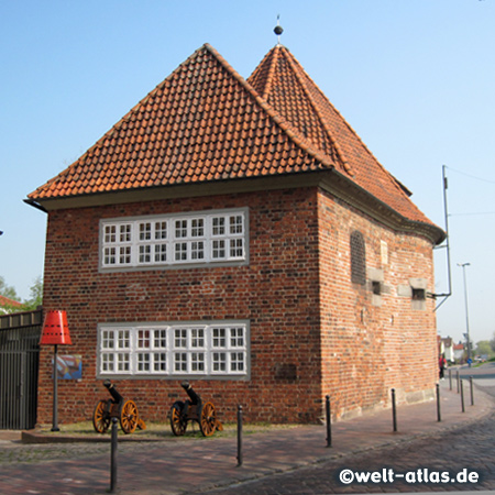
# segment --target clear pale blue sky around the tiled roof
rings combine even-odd
[[[495,331],[495,0],[3,0],[0,276],[43,273],[46,215],[23,199],[86,152],[205,43],[246,78],[282,43],[377,160],[444,227],[453,295],[439,332]],[[438,250],[437,293],[448,290]]]

